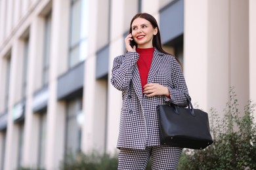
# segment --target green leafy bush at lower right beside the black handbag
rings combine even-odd
[[[256,169],[255,105],[251,101],[238,110],[234,88],[223,118],[211,109],[211,131],[214,143],[204,150],[184,149],[178,169]]]

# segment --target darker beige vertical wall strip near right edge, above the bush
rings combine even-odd
[[[249,0],[230,3],[230,86],[234,86],[240,112],[249,100]]]

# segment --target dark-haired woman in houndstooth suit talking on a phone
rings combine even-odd
[[[181,65],[161,47],[156,19],[136,14],[125,38],[126,53],[114,59],[111,83],[123,105],[117,148],[118,169],[176,169],[182,148],[160,144],[158,105],[186,106],[188,89]]]

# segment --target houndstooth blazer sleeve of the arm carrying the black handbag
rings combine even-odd
[[[176,59],[173,59],[172,63],[172,73],[171,81],[172,86],[168,86],[170,97],[165,97],[165,101],[169,101],[175,105],[181,105],[186,107],[188,102],[186,101],[186,96],[189,97],[188,88],[186,86],[186,81],[182,73],[181,65],[177,62]]]

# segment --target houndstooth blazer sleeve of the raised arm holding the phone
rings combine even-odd
[[[133,75],[133,69],[137,65],[139,54],[137,52],[127,52],[123,56],[114,59],[112,67],[111,84],[120,91],[129,88]]]

